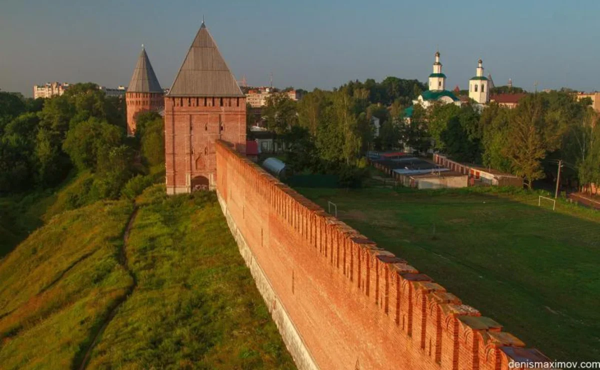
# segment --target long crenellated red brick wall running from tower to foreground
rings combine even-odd
[[[269,285],[263,297],[300,368],[498,370],[512,359],[547,361],[228,143],[215,149],[227,220],[249,266],[259,266],[251,269],[265,276],[257,285]],[[284,329],[278,312],[291,321]]]

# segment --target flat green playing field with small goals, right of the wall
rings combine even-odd
[[[600,212],[524,192],[297,190],[529,347],[600,360]]]

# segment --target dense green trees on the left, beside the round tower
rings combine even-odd
[[[37,100],[0,92],[0,194],[52,188],[82,172],[93,176],[73,203],[136,192],[164,166],[161,116],[145,112],[137,121],[136,137],[127,137],[124,100],[93,83]]]

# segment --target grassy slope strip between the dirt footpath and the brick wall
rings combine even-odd
[[[292,369],[214,193],[154,186],[127,242],[137,286],[88,368]]]

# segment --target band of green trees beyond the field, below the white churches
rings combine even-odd
[[[439,103],[410,107],[407,117],[406,108],[424,89],[416,80],[388,77],[315,89],[299,102],[275,94],[263,118],[287,143],[289,166],[300,172],[360,169],[368,150],[412,148],[514,173],[529,188],[555,176],[554,159],[563,160],[579,184],[600,183],[600,125],[589,99],[577,101],[565,90],[540,92],[525,95],[515,109]],[[377,137],[372,117],[380,122]]]

